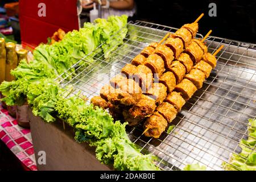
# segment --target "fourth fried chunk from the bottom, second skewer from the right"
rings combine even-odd
[[[186,68],[182,63],[180,63],[180,61],[172,61],[169,71],[174,73],[176,84],[179,84],[179,82],[181,82],[181,80],[183,80],[185,77]]]

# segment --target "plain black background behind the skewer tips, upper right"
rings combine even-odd
[[[204,13],[199,22],[199,33],[207,34],[212,29],[213,36],[256,43],[256,1],[163,1],[135,0],[137,15],[135,19],[146,20],[180,28],[193,22]],[[210,17],[209,3],[217,5],[217,16]]]

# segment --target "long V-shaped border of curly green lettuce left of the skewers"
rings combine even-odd
[[[7,105],[23,105],[27,101],[33,113],[46,122],[54,122],[55,117],[63,119],[74,128],[77,142],[96,147],[96,157],[104,164],[113,164],[118,170],[158,170],[154,157],[142,155],[127,137],[126,123],[113,122],[105,110],[86,105],[80,97],[66,98],[67,92],[54,81],[64,72],[61,76],[69,78],[74,71],[72,65],[89,53],[93,57],[98,46],[105,57],[110,56],[123,43],[126,24],[125,15],[97,19],[95,24],[85,23],[79,31],[69,32],[61,42],[38,46],[34,60],[30,64],[21,61],[11,72],[16,80],[2,82],[0,92],[6,96],[2,100]],[[93,59],[86,62],[90,61]]]

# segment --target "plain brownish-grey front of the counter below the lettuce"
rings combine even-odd
[[[36,165],[39,170],[111,170],[109,166],[98,162],[95,156],[95,148],[88,143],[77,143],[74,139],[73,128],[56,121],[46,123],[42,118],[32,114],[28,108],[32,141],[35,150]],[[46,164],[39,164],[38,159],[46,154]],[[43,152],[43,153],[44,153]]]

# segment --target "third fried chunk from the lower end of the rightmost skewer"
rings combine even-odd
[[[171,92],[167,95],[165,102],[174,105],[177,111],[180,111],[186,103],[180,92]]]

